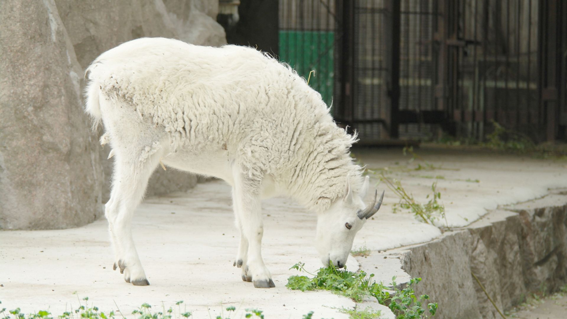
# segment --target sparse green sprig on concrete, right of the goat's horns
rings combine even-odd
[[[390,179],[386,177],[386,175],[381,174],[380,180],[386,183],[386,186],[400,198],[400,202],[394,205],[393,212],[399,211],[400,208],[407,209],[418,219],[424,221],[424,223],[432,225],[435,224],[437,216],[440,216],[445,219],[445,224],[447,225],[445,205],[439,203],[439,200],[441,200],[441,192],[437,191],[437,182],[431,184],[431,191],[433,193],[426,196],[426,199],[429,199],[429,201],[425,204],[421,204],[413,198],[413,195],[408,194],[401,182],[397,179]]]

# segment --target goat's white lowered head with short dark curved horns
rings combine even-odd
[[[329,262],[338,268],[346,264],[353,246],[354,236],[370,217],[380,208],[384,193],[378,199],[375,192],[373,202],[365,204],[362,198],[366,195],[369,178],[366,177],[360,191],[353,191],[347,178],[345,195],[331,205],[327,211],[318,216],[317,221],[317,250],[323,265]]]

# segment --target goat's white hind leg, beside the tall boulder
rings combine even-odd
[[[144,161],[116,155],[111,198],[105,207],[112,244],[115,249],[115,264],[124,274],[124,280],[136,286],[150,283],[139,261],[132,238],[132,217],[134,209],[141,202],[147,181],[159,162],[160,152]]]

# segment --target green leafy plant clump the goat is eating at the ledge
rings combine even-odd
[[[317,274],[311,274],[304,268],[304,263],[296,263],[290,269],[305,271],[313,276],[290,276],[287,279],[286,287],[301,291],[307,290],[328,290],[338,295],[346,296],[356,302],[361,302],[365,297],[375,297],[378,303],[387,305],[392,312],[396,314],[397,319],[417,319],[428,318],[426,310],[422,307],[428,299],[428,295],[416,296],[413,287],[421,281],[421,278],[411,279],[404,288],[398,288],[395,282],[396,278],[392,278],[392,287],[394,292],[388,292],[382,283],[376,283],[373,280],[374,274],[367,275],[364,271],[352,272],[348,270],[340,270],[332,265],[320,268]],[[429,315],[434,316],[437,312],[437,303],[427,304]],[[350,314],[350,313],[349,313]],[[356,317],[351,314],[351,318]],[[364,318],[364,317],[362,317]]]

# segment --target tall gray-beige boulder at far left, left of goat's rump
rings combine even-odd
[[[102,213],[82,69],[53,1],[0,2],[0,229],[83,225]]]

